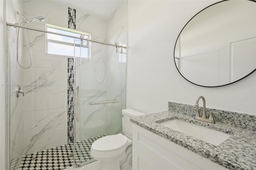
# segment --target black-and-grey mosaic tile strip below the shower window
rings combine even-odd
[[[74,142],[74,59],[68,58],[68,144]]]

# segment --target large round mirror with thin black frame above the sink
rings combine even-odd
[[[196,85],[218,87],[256,70],[255,2],[221,1],[188,21],[174,48],[182,77]]]

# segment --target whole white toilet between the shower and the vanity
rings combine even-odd
[[[132,123],[130,118],[144,115],[132,109],[122,110],[124,134],[104,136],[95,140],[91,156],[100,161],[100,170],[132,169]]]

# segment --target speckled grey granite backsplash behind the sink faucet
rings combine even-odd
[[[196,111],[192,109],[193,106],[194,105],[168,102],[168,111],[183,113],[185,115],[191,115],[192,117],[194,117],[196,115]],[[203,108],[199,107],[199,109],[200,109],[200,115],[202,115]],[[256,130],[255,115],[225,111],[220,109],[212,109],[212,108],[206,107],[206,117],[209,117],[210,111],[220,113],[219,115],[214,115],[214,119],[216,122],[230,123],[231,125],[235,125],[237,127],[246,128],[249,130]]]

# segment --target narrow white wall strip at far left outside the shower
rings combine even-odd
[[[5,25],[5,1],[0,1],[0,84],[6,83],[6,25]],[[0,169],[6,169],[6,102],[5,87],[0,86]]]

